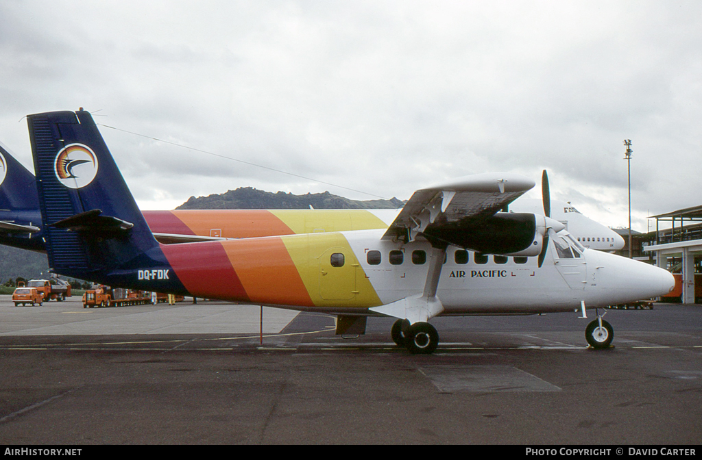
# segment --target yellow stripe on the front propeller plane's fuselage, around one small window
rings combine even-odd
[[[381,304],[343,234],[282,236],[282,241],[314,306],[366,309]],[[343,265],[333,266],[331,259],[338,261],[338,254]]]

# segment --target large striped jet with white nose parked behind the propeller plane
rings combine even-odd
[[[624,240],[621,236],[581,215],[568,203],[554,201],[553,208],[552,217],[564,223],[571,234],[586,247],[600,250],[623,247]],[[512,203],[510,209],[543,214],[540,201],[524,198]],[[161,243],[387,229],[398,213],[399,210],[396,209],[143,211],[147,224]],[[44,250],[34,175],[1,145],[0,244]]]

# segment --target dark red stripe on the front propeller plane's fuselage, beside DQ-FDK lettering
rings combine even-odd
[[[195,297],[249,302],[244,286],[218,241],[161,245],[168,264]]]

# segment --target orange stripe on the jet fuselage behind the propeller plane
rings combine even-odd
[[[193,234],[223,238],[292,235],[295,232],[268,210],[173,210]],[[156,233],[175,233],[153,229]],[[218,234],[218,231],[221,233]]]

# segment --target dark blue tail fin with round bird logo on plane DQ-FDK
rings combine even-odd
[[[133,269],[164,264],[92,116],[27,116],[49,265],[67,276],[119,285]],[[149,253],[149,254],[147,254]]]

